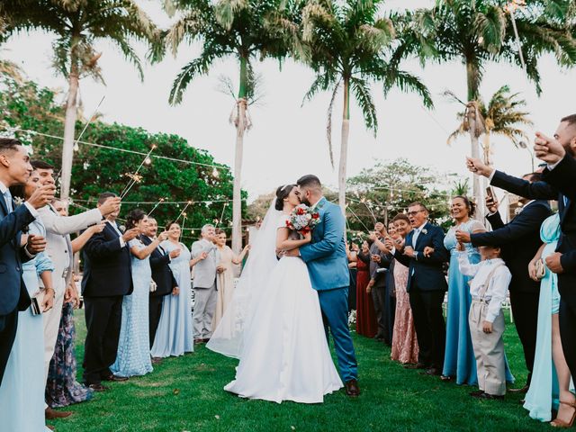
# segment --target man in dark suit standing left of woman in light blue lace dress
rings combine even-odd
[[[101,193],[98,207],[115,193]],[[85,302],[86,339],[84,380],[95,392],[107,390],[102,381],[125,381],[110,371],[116,359],[120,338],[122,298],[132,293],[130,250],[127,243],[136,238],[138,229],[122,233],[116,225],[117,211],[106,216],[106,227],[94,234],[83,249],[84,276],[82,295]]]

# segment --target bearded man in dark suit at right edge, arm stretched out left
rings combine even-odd
[[[576,206],[571,192],[573,188],[573,172],[569,169],[570,157],[576,153],[576,114],[564,117],[554,133],[554,139],[548,139],[537,133],[536,156],[546,160],[550,153],[543,143],[557,144],[563,147],[564,154],[569,156],[563,162],[549,165],[543,173],[543,181],[530,183],[520,178],[505,175],[486,166],[478,159],[468,159],[468,168],[478,175],[491,179],[491,184],[506,189],[511,193],[524,196],[531,200],[558,200],[560,227],[562,235],[556,246],[556,253],[546,258],[546,266],[558,275],[558,291],[560,292],[560,336],[562,338],[564,356],[570,367],[572,378],[576,377]],[[559,171],[556,171],[560,168]],[[554,173],[554,171],[556,171]],[[571,186],[572,183],[572,186]],[[565,191],[565,192],[564,192]],[[566,194],[564,194],[566,193]]]

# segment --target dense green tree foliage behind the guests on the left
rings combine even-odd
[[[33,158],[41,158],[56,166],[59,170],[59,155],[62,141],[42,137],[33,133],[19,131],[36,130],[49,135],[62,136],[63,107],[58,103],[58,94],[31,81],[19,82],[14,76],[0,75],[0,126],[4,135],[14,135],[33,149]],[[84,126],[78,121],[77,128]],[[85,132],[83,141],[124,148],[140,153],[148,153],[152,145],[151,164],[139,171],[142,180],[135,184],[124,201],[135,202],[122,206],[121,218],[135,207],[151,211],[160,198],[176,204],[160,204],[153,215],[163,226],[168,220],[174,220],[184,210],[187,201],[193,203],[186,209],[185,226],[200,228],[204,223],[220,220],[222,210],[224,218],[222,228],[229,228],[231,218],[232,175],[228,166],[216,164],[213,157],[205,151],[191,147],[185,139],[177,135],[164,133],[151,134],[141,128],[132,128],[121,124],[107,124],[93,121]],[[202,165],[176,162],[154,156],[174,157]],[[144,156],[124,153],[108,148],[92,147],[80,143],[76,153],[76,163],[72,170],[73,212],[82,211],[81,207],[93,208],[99,193],[112,191],[121,193],[129,183],[126,174],[133,174],[143,161]],[[213,165],[220,166],[218,175],[213,175]],[[247,194],[243,192],[244,198]],[[207,202],[206,202],[207,201]],[[228,201],[226,209],[224,202]],[[142,203],[151,202],[151,203]],[[180,221],[182,221],[182,217]],[[198,235],[198,231],[194,235]],[[184,235],[192,238],[190,230]]]

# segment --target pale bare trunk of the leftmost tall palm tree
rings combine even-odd
[[[62,145],[62,176],[60,196],[70,196],[72,179],[72,159],[74,158],[74,134],[76,131],[76,101],[78,95],[79,76],[76,58],[71,59],[70,75],[68,76],[68,94],[66,101],[66,118],[64,120],[64,143]]]

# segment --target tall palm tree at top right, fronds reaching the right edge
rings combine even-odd
[[[527,0],[526,5],[511,14],[520,2],[437,0],[430,9],[407,13],[413,33],[410,39],[415,43],[405,49],[417,52],[420,58],[428,55],[440,62],[461,61],[466,70],[470,103],[477,103],[479,99],[482,76],[490,62],[524,67],[540,94],[538,60],[543,54],[554,53],[561,66],[572,66],[576,62],[574,29],[565,19],[570,14],[571,3],[572,0]],[[474,123],[474,115],[469,120]],[[476,129],[473,124],[472,129]],[[472,156],[479,157],[474,134],[471,142]],[[473,195],[477,202],[482,200],[477,177],[473,179]]]

